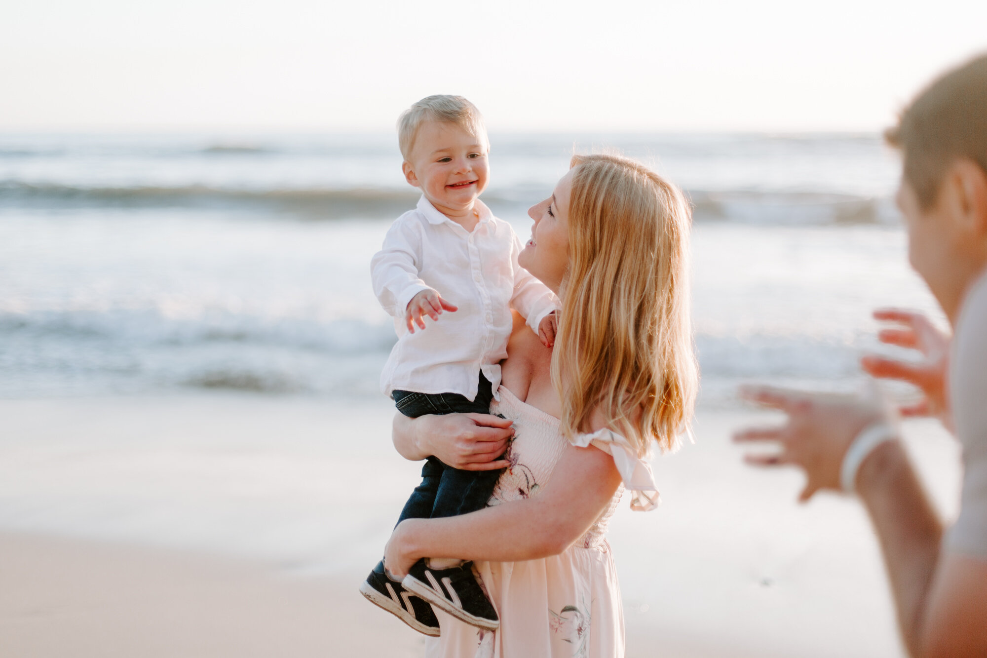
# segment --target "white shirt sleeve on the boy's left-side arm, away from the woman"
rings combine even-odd
[[[384,236],[381,250],[370,261],[373,291],[381,306],[394,317],[403,317],[408,302],[418,292],[430,290],[418,276],[421,236],[399,218]]]

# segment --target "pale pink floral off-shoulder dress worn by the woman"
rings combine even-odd
[[[537,496],[567,441],[559,419],[521,402],[504,386],[491,413],[514,422],[515,438],[490,500],[499,505]],[[477,562],[500,617],[496,632],[482,631],[436,610],[440,637],[426,642],[427,658],[616,658],[624,655],[624,613],[607,523],[625,487],[631,507],[657,505],[658,492],[647,462],[626,439],[608,430],[580,435],[579,447],[594,446],[614,457],[623,484],[589,531],[558,555],[523,562]],[[518,529],[524,532],[524,529]]]

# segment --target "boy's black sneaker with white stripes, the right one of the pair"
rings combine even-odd
[[[418,560],[402,585],[433,606],[470,625],[496,630],[500,619],[473,575],[473,562],[450,569],[429,569]]]

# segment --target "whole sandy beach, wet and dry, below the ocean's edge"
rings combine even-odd
[[[391,413],[301,396],[0,401],[0,653],[421,655],[356,592],[417,475]],[[797,473],[748,469],[728,444],[764,418],[702,412],[697,443],[655,461],[661,507],[615,517],[629,657],[902,655],[856,503],[799,507]],[[907,434],[951,514],[954,446],[933,423]]]

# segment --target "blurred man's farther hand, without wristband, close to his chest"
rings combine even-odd
[[[921,400],[903,405],[899,409],[902,416],[935,416],[947,427],[951,427],[949,399],[946,395],[949,335],[937,329],[922,313],[880,308],[873,312],[873,316],[884,322],[904,325],[881,329],[877,334],[881,343],[918,350],[922,354],[922,360],[916,364],[867,355],[861,359],[861,367],[874,377],[907,381],[922,391]]]

